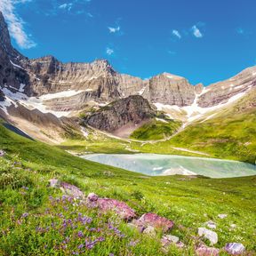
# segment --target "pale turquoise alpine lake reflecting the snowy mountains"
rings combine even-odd
[[[231,178],[256,175],[256,165],[214,158],[156,154],[92,154],[81,157],[151,176],[181,174]]]

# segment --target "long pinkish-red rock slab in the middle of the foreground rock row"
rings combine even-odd
[[[94,193],[90,193],[87,196],[87,204],[88,206],[98,207],[101,212],[114,211],[124,220],[132,220],[136,217],[135,211],[124,202],[115,199],[100,198]]]

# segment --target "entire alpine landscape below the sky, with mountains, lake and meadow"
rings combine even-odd
[[[256,255],[255,164],[256,67],[28,59],[0,12],[0,255]]]

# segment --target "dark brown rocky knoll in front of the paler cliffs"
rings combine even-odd
[[[155,116],[148,100],[139,95],[116,100],[96,113],[84,118],[84,124],[94,128],[113,132],[125,124],[140,124],[143,120]]]

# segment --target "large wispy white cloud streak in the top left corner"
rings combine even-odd
[[[4,19],[8,23],[11,36],[16,43],[23,49],[29,49],[36,46],[36,43],[30,38],[24,29],[25,22],[15,12],[16,4],[25,4],[31,0],[0,0],[0,11],[4,14]]]

